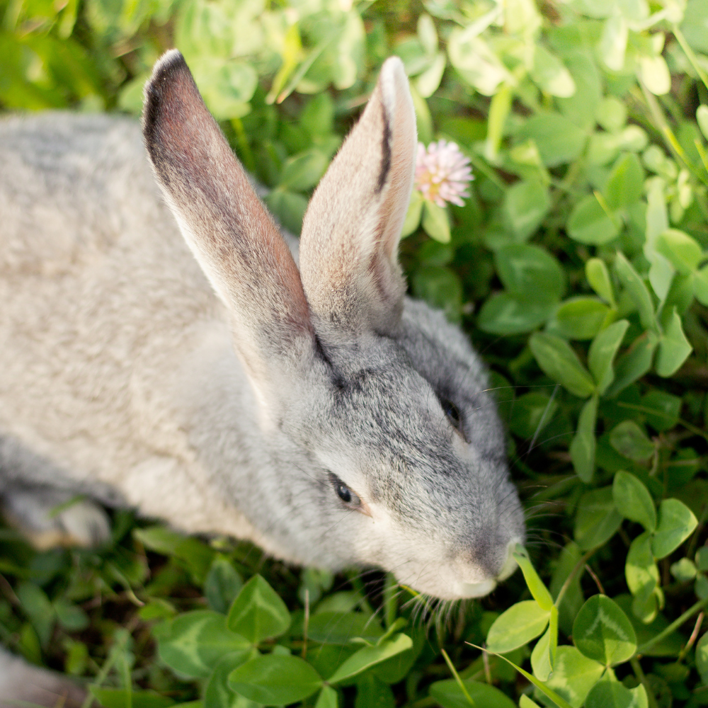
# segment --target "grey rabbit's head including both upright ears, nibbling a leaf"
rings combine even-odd
[[[226,304],[272,460],[240,510],[291,560],[380,566],[440,598],[489,593],[515,568],[523,511],[479,359],[404,297],[416,119],[400,60],[312,197],[299,270],[179,52],[145,96],[156,178]]]

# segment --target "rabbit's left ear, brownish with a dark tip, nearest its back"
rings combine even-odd
[[[275,372],[314,347],[307,300],[290,250],[177,50],[145,85],[143,133],[181,232],[229,309],[236,353],[263,403]]]

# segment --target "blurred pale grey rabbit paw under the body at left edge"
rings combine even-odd
[[[5,517],[38,550],[57,546],[92,548],[110,539],[103,508],[54,489],[10,489],[4,493]]]

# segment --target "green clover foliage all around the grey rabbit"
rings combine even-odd
[[[206,621],[184,613],[226,613],[258,571],[294,627],[275,649],[256,641],[264,656],[304,656],[311,610],[364,644],[384,628],[413,641],[399,670],[307,705],[708,704],[708,0],[1,0],[0,19],[4,110],[137,115],[155,59],[178,47],[295,234],[383,59],[403,59],[419,139],[454,141],[476,179],[462,207],[413,194],[401,259],[411,294],[491,367],[542,578],[424,602],[381,573],[295,571],[119,512],[100,553],[2,532],[8,646],[103,686],[109,708],[246,708],[222,654],[193,642],[195,669],[173,649]],[[372,615],[378,634],[359,622]],[[351,637],[325,635],[310,641],[332,668]]]

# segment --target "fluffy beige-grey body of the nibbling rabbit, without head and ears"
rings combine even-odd
[[[47,113],[0,125],[2,484],[65,486],[256,539],[227,501],[258,503],[247,479],[219,475],[190,442],[211,435],[222,465],[253,475],[272,464],[224,308],[139,124]]]

